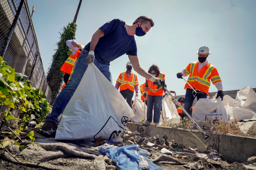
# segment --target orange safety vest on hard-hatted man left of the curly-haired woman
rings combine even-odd
[[[134,92],[134,86],[139,85],[137,75],[131,72],[129,78],[127,78],[126,71],[120,73],[117,81],[120,83],[120,91],[129,89]]]

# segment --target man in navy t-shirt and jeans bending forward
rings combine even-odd
[[[42,130],[56,129],[58,116],[64,111],[79,85],[88,64],[91,62],[112,83],[112,76],[109,69],[110,62],[126,54],[134,70],[139,75],[160,84],[159,78],[152,76],[139,65],[137,46],[134,38],[134,35],[145,35],[153,26],[153,20],[147,16],[140,16],[131,26],[120,19],[114,19],[101,26],[93,34],[91,42],[84,47],[76,63],[72,78],[56,98],[52,112],[46,116]]]

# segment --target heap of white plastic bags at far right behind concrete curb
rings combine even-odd
[[[241,131],[256,134],[256,93],[250,86],[239,90],[236,99],[225,95],[221,102],[220,98],[216,100],[215,97],[216,95],[210,100],[200,99],[195,104],[192,117],[199,126],[209,129],[215,119],[223,119],[227,122],[229,118],[229,122],[246,121],[240,123]]]

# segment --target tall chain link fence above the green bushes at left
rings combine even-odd
[[[27,0],[0,0],[0,55],[6,65],[27,75],[24,79],[31,80],[32,86],[44,92],[50,103],[52,92],[46,81]]]

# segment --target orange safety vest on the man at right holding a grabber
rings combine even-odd
[[[201,68],[198,72],[198,62],[189,63],[186,68],[183,69],[184,73],[189,75],[187,82],[195,89],[200,90],[206,94],[208,94],[209,87],[212,83],[221,82],[220,75],[217,69],[211,65],[207,64]],[[191,87],[186,83],[184,89]]]

